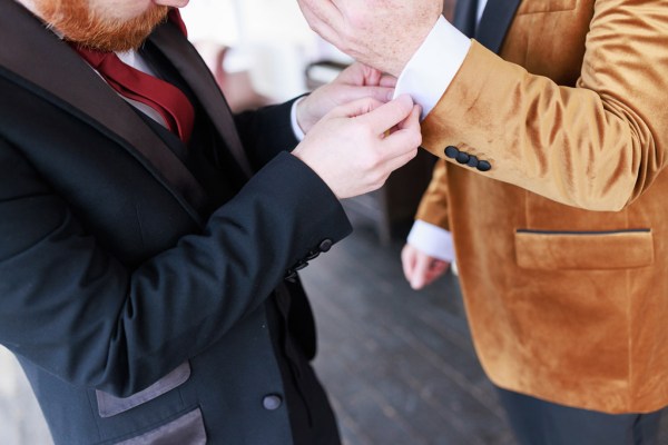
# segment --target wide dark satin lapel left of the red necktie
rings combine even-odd
[[[107,134],[158,179],[199,221],[204,190],[183,162],[69,46],[14,0],[0,0],[0,65],[56,97],[65,110]],[[185,198],[185,199],[184,199]]]

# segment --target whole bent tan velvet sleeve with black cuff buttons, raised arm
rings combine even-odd
[[[423,146],[443,158],[454,146],[491,165],[472,171],[562,204],[619,210],[666,165],[666,48],[662,0],[597,1],[574,88],[474,41],[425,119]]]

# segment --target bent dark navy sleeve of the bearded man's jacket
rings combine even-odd
[[[288,267],[350,230],[330,189],[283,154],[203,233],[130,268],[0,138],[0,343],[71,384],[127,396],[212,346]]]

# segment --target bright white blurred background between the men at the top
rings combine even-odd
[[[308,28],[295,0],[194,0],[183,10],[188,37],[228,88],[233,108],[306,92],[311,63],[350,58]],[[327,81],[335,71],[311,72]]]

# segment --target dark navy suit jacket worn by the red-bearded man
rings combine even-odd
[[[283,390],[265,301],[350,225],[284,151],[296,144],[289,105],[235,120],[175,27],[150,37],[219,140],[198,161],[222,184],[252,176],[217,202],[215,184],[66,43],[13,0],[0,4],[0,342],[53,438],[291,443],[285,406],[263,407]],[[301,338],[311,348],[314,333]]]

